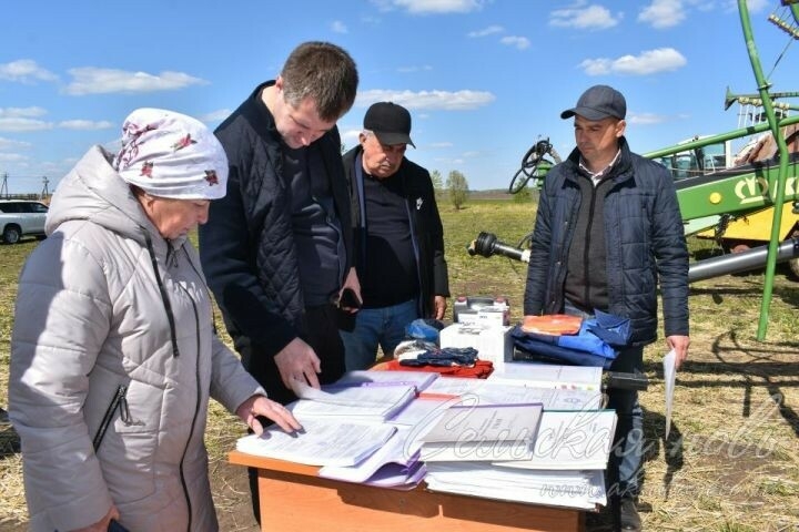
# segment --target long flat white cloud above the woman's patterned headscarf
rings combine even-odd
[[[65,92],[72,95],[108,94],[114,92],[156,92],[174,91],[190,85],[206,84],[205,80],[183,72],[164,71],[160,74],[128,72],[115,69],[84,66],[71,69],[72,82]]]

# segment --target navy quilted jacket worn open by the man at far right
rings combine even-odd
[[[605,275],[608,308],[631,320],[630,341],[657,337],[657,285],[660,284],[666,336],[688,336],[688,250],[674,182],[659,164],[629,151],[621,156],[604,196]],[[575,150],[546,176],[533,234],[525,315],[563,311],[566,266],[583,202]],[[601,201],[600,197],[598,201]],[[580,245],[584,243],[579,243]],[[590,265],[588,265],[590,267]]]

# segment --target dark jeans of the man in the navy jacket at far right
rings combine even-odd
[[[593,317],[586,314],[569,301],[566,301],[564,314]],[[635,372],[644,370],[644,347],[628,347],[619,351],[618,357],[610,366],[611,371]],[[618,485],[608,485],[609,494],[620,497],[638,497],[640,491],[639,480],[641,475],[641,459],[644,452],[644,410],[638,402],[637,390],[607,390],[608,408],[616,410],[618,421],[616,423],[616,436],[608,468],[617,469]],[[615,471],[608,471],[613,479]],[[615,480],[615,479],[614,479]]]

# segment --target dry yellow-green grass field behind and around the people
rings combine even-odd
[[[453,295],[506,296],[513,319],[520,319],[525,265],[498,256],[473,257],[466,247],[481,231],[495,233],[515,246],[532,229],[534,209],[532,204],[471,201],[455,211],[442,202]],[[36,244],[0,246],[3,408],[17,276]],[[695,256],[714,252],[706,241],[691,241],[690,247]],[[660,365],[665,342],[645,351],[650,381],[648,391],[641,393],[647,437],[640,501],[645,530],[799,530],[799,282],[786,272],[778,267],[765,341],[756,340],[761,272],[691,285],[691,348],[677,376],[668,441],[664,441]],[[206,442],[212,471],[223,470],[225,453],[241,431],[219,406],[211,409]],[[11,428],[0,424],[1,531],[26,530],[18,444]],[[220,514],[249,512],[249,494],[225,489],[225,482],[213,479]],[[594,522],[590,530],[605,530],[601,519],[589,522]]]

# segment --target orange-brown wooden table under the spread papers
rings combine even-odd
[[[231,463],[257,468],[262,529],[334,532],[580,532],[584,513],[475,497],[411,491],[317,477],[318,468],[240,451]]]

